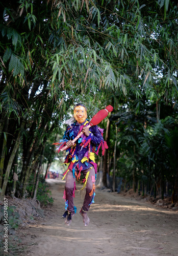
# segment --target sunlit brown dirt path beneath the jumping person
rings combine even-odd
[[[64,183],[48,182],[54,198],[52,217],[26,230],[26,239],[36,243],[28,255],[177,256],[177,211],[97,190],[88,214],[90,224],[85,227],[79,214],[83,199],[76,190],[77,214],[71,225],[66,226],[61,219],[65,211]],[[80,189],[80,185],[77,188]]]

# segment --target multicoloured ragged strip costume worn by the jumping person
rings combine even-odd
[[[60,140],[60,149],[66,145],[66,142],[73,140],[83,130],[84,126],[88,126],[89,121],[86,119],[82,123],[75,121],[70,126],[67,126],[63,140]],[[89,128],[89,136],[83,134],[73,146],[69,147],[66,152],[68,155],[65,158],[64,163],[67,165],[67,170],[63,174],[66,177],[66,184],[64,190],[64,199],[66,200],[66,212],[64,218],[68,213],[74,214],[75,207],[73,204],[74,191],[76,189],[75,180],[80,179],[81,172],[84,175],[84,187],[86,187],[86,195],[82,210],[87,212],[91,203],[94,202],[95,196],[95,179],[96,168],[94,154],[98,154],[99,148],[102,148],[103,155],[105,148],[108,148],[107,143],[103,139],[103,129],[100,129],[97,125],[93,125]],[[84,188],[83,187],[83,188]],[[83,189],[82,188],[82,189]]]

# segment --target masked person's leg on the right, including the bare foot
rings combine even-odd
[[[83,222],[85,226],[88,226],[90,219],[87,216],[87,211],[90,208],[91,201],[93,199],[93,193],[95,189],[95,170],[92,167],[91,169],[87,169],[83,171],[84,177],[86,177],[87,173],[89,172],[88,178],[87,178],[87,183],[86,183],[86,194],[85,194],[85,199],[84,203],[82,206],[82,209],[80,211],[80,214],[83,217]]]

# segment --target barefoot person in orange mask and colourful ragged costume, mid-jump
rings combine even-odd
[[[81,173],[83,173],[83,183],[86,188],[86,194],[80,214],[83,217],[84,225],[88,226],[90,220],[87,212],[90,205],[94,203],[95,196],[97,164],[95,163],[94,154],[98,154],[101,146],[104,155],[105,147],[108,147],[103,139],[103,129],[100,129],[97,125],[87,127],[89,125],[89,120],[87,119],[87,108],[84,104],[76,104],[74,106],[73,114],[74,116],[66,122],[68,124],[67,129],[63,139],[59,142],[59,151],[65,145],[68,147],[66,150],[68,154],[64,161],[67,165],[67,170],[63,174],[64,178],[66,178],[63,196],[65,199],[66,211],[63,218],[65,218],[66,225],[71,224],[72,217],[77,210],[73,203],[73,197],[75,196],[74,191],[76,189],[75,180],[79,180]],[[72,142],[81,131],[84,132],[83,135],[76,142]]]

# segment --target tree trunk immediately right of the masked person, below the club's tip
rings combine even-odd
[[[111,122],[108,119],[107,121],[107,127],[106,127],[106,137],[105,137],[105,141],[107,142],[107,144],[109,144],[109,139],[110,139],[110,128],[111,128]],[[104,159],[103,159],[103,185],[105,187],[108,187],[107,184],[107,168],[108,168],[108,148],[105,149],[105,154],[104,154]]]

